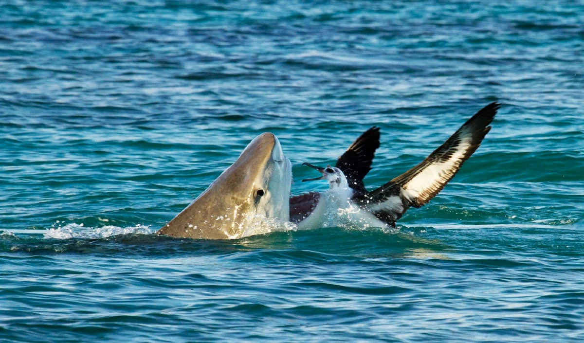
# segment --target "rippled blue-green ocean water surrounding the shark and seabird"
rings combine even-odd
[[[582,342],[582,1],[0,2],[0,342]],[[154,234],[276,134],[376,187],[479,108],[397,231]]]

